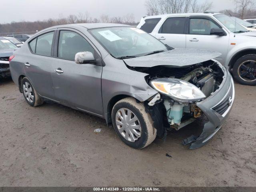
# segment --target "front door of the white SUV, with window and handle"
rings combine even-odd
[[[190,16],[186,48],[220,52],[222,55],[216,59],[224,64],[228,52],[229,34],[226,32],[225,36],[211,35],[212,28],[222,27],[208,16]]]

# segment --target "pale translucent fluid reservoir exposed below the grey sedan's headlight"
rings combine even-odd
[[[164,106],[166,108],[168,122],[170,124],[180,123],[183,114],[183,105],[174,103],[174,105],[171,106],[167,100],[164,100]]]

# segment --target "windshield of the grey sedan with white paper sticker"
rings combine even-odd
[[[90,30],[115,58],[144,56],[168,50],[159,40],[134,27],[110,27]]]

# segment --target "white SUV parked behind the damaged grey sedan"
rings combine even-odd
[[[220,52],[216,58],[240,84],[256,85],[256,34],[218,13],[147,16],[137,28],[174,48]]]

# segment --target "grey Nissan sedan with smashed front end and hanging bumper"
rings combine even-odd
[[[14,52],[10,70],[31,106],[52,100],[112,123],[120,139],[144,148],[167,130],[207,119],[184,139],[203,146],[234,102],[230,73],[218,52],[173,49],[122,24],[72,24],[38,32]]]

